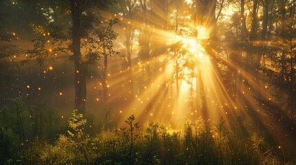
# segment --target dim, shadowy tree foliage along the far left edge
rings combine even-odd
[[[19,13],[22,12],[19,12],[18,6],[14,6],[11,1],[0,1],[0,102],[3,103],[10,96],[8,89],[12,87],[12,79],[20,66],[20,63],[14,60],[21,54],[21,49],[15,45],[15,41],[19,39],[19,31],[14,28],[14,18],[18,18]],[[21,20],[17,21],[23,23]]]

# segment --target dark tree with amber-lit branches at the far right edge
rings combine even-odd
[[[284,91],[279,92],[276,97],[279,98],[282,109],[286,110],[286,115],[295,118],[295,1],[279,1],[277,6],[281,9],[277,18],[281,26],[275,27],[274,39],[271,40],[277,45],[266,47],[266,61],[271,64],[263,65],[262,71],[266,74],[268,85]]]

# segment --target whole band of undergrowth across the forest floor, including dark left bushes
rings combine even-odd
[[[102,130],[77,110],[68,122],[46,104],[28,109],[21,98],[1,109],[1,164],[293,164],[285,144],[269,142],[266,133],[237,117],[232,129],[221,118],[199,118],[181,129],[131,115],[122,128]],[[43,114],[43,115],[42,115]],[[40,116],[39,116],[40,115]],[[43,117],[43,122],[38,118]],[[103,127],[103,124],[101,124]],[[90,129],[92,128],[92,129]],[[55,134],[55,137],[52,135]]]

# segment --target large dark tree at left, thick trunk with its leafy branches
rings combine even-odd
[[[109,30],[106,36],[99,36],[103,37],[102,40],[96,40],[96,35],[99,35],[100,30],[106,32],[106,29],[110,29],[110,25],[112,27],[114,23],[117,23],[112,18],[105,21],[99,17],[99,12],[95,12],[97,9],[106,8],[107,3],[106,1],[84,0],[70,0],[68,3],[59,1],[55,8],[44,7],[52,11],[46,14],[51,14],[53,21],[48,21],[45,25],[32,24],[39,36],[34,40],[34,49],[28,51],[30,58],[36,57],[37,61],[42,63],[48,56],[69,54],[68,50],[72,52],[70,57],[75,69],[75,108],[81,113],[85,113],[88,65],[98,61],[101,56],[116,54],[112,50],[112,42],[116,39],[114,31]],[[70,26],[64,22],[64,19],[70,21]],[[66,27],[69,31],[65,30]],[[82,53],[82,50],[86,51]]]

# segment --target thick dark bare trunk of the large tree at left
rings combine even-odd
[[[81,1],[70,0],[72,14],[72,52],[74,59],[75,109],[85,113],[87,65],[81,61]]]

